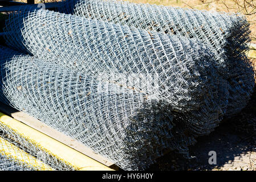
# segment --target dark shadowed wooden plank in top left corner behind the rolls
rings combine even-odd
[[[58,4],[61,2],[48,2],[44,3],[46,9],[55,9]],[[0,12],[6,12],[6,11],[18,11],[21,9],[24,9],[24,7],[29,6],[31,9],[34,7],[37,8],[38,4],[34,5],[17,5],[17,6],[7,6],[7,7],[0,7]]]

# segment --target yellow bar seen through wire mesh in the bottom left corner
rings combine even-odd
[[[44,164],[41,160],[36,159],[34,156],[27,154],[14,144],[0,137],[0,155],[8,159],[14,160],[16,163],[25,167],[31,167],[40,171],[54,171],[53,168]]]

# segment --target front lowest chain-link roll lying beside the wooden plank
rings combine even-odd
[[[1,49],[4,59],[10,51],[5,50]],[[7,57],[1,68],[2,96],[12,106],[80,140],[120,167],[145,168],[164,148],[176,147],[172,122],[164,119],[159,106],[147,103],[144,94],[35,57]]]

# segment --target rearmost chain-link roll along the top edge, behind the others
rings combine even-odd
[[[229,51],[234,55],[233,51],[237,51],[234,48],[244,49],[250,41],[249,23],[237,14],[116,0],[66,0],[58,10],[143,30],[196,38],[212,49],[219,63],[230,56],[226,55]]]

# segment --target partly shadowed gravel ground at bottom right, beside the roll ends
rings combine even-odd
[[[256,170],[256,138],[238,133],[233,127],[236,126],[229,122],[222,123],[210,135],[198,138],[198,142],[190,147],[192,159],[184,159],[182,155],[170,152],[159,158],[149,170]],[[216,151],[216,165],[208,163],[209,151]]]

